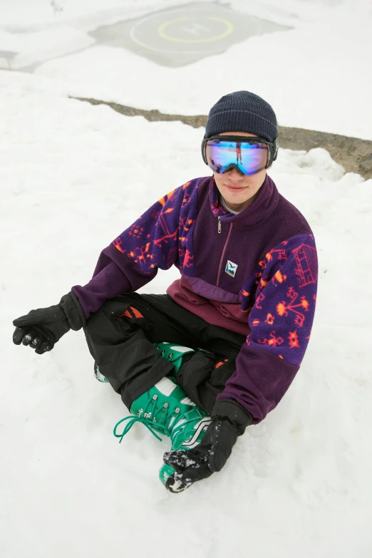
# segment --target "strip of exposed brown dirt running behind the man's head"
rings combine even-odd
[[[126,116],[143,116],[150,122],[157,120],[180,120],[193,128],[205,126],[206,115],[185,116],[180,114],[164,114],[159,110],[141,110],[140,108],[127,107],[118,103],[108,103],[104,100],[72,97],[86,100],[92,105],[108,105],[113,110]],[[302,128],[284,128],[279,126],[279,145],[284,149],[305,150],[324,148],[331,157],[344,167],[346,172],[357,172],[364,178],[372,178],[372,141],[349,138],[346,135],[329,134],[304,130]]]

